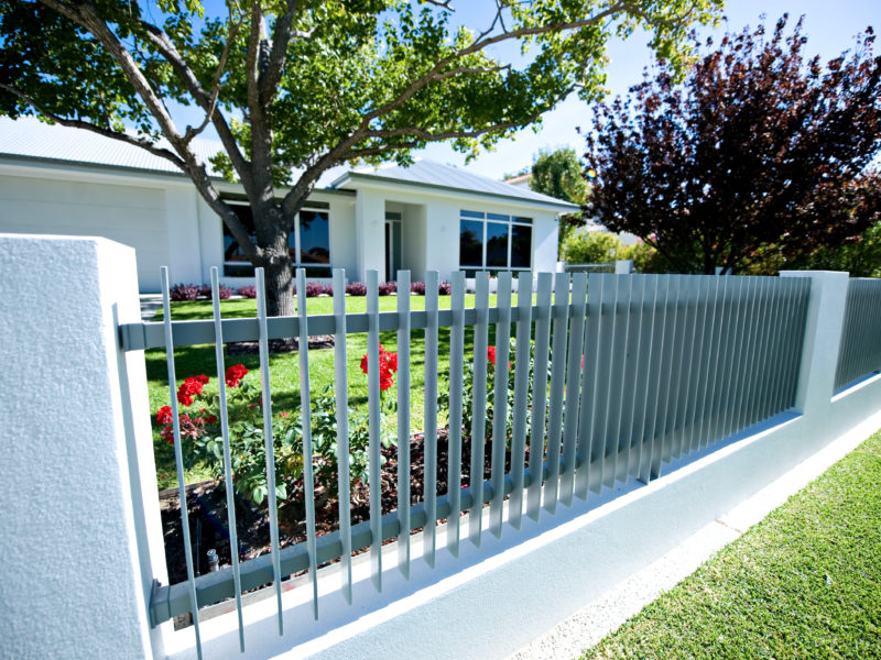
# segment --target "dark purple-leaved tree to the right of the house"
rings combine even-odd
[[[784,15],[721,40],[676,84],[660,61],[626,100],[595,109],[586,161],[592,210],[682,273],[738,270],[760,246],[794,257],[881,219],[881,58],[868,29],[852,53],[807,62]]]

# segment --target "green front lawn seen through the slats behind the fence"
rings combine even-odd
[[[398,305],[396,296],[380,297],[380,311],[394,311]],[[474,296],[466,296],[465,306],[474,307]],[[442,309],[449,308],[449,296],[440,296],[439,306]],[[411,296],[412,309],[424,309],[425,298],[423,296]],[[516,296],[513,297],[513,305],[516,305]],[[309,315],[333,314],[334,300],[330,297],[318,297],[307,299],[307,311]],[[496,296],[490,296],[490,306],[496,305]],[[346,298],[346,308],[349,312],[363,312],[367,308],[367,298],[362,296],[349,296]],[[224,318],[252,317],[257,314],[255,300],[233,299],[224,300],[220,304]],[[153,320],[160,321],[163,318],[162,309]],[[194,320],[211,318],[211,302],[208,300],[196,300],[192,302],[172,304],[173,320]],[[490,341],[494,339],[494,328],[490,327]],[[472,352],[474,333],[470,328],[466,328],[465,351],[466,355]],[[449,360],[449,329],[442,328],[438,332],[438,370],[442,374],[448,371]],[[396,333],[383,332],[380,341],[389,351],[395,351]],[[348,394],[349,406],[361,411],[367,410],[367,376],[360,370],[361,356],[367,352],[367,334],[349,334],[347,338],[347,369],[348,369]],[[423,426],[423,400],[424,400],[424,373],[425,373],[425,345],[424,331],[414,330],[411,334],[411,419],[412,430],[422,430]],[[168,382],[165,362],[165,350],[155,349],[146,351],[146,376],[150,389],[150,410],[155,414],[162,406],[168,405]],[[231,364],[244,364],[251,373],[247,380],[259,385],[260,359],[258,355],[232,355],[225,356],[227,366]],[[195,346],[183,346],[175,351],[175,372],[178,384],[187,376],[206,374],[211,377],[208,391],[216,391],[216,366],[214,344],[203,344]],[[309,351],[309,382],[312,384],[313,398],[320,394],[326,386],[333,386],[335,378],[334,350],[311,350]],[[395,377],[395,387],[398,378]],[[389,395],[394,395],[395,387],[389,391]],[[300,355],[297,353],[273,354],[270,355],[270,389],[272,392],[273,410],[279,413],[293,408],[300,402]],[[438,420],[443,424],[444,420]],[[174,473],[173,449],[157,432],[155,433],[155,457],[156,472],[160,477],[160,487],[170,487],[176,483]],[[210,473],[206,468],[196,466],[187,472],[187,481],[199,481],[209,479]]]

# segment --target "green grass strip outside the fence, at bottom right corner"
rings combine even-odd
[[[881,432],[581,658],[881,656]]]

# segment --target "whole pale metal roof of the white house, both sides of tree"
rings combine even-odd
[[[206,163],[208,175],[219,178],[220,174],[211,167],[209,158],[222,151],[222,145],[217,141],[199,138],[194,139],[192,144],[196,156]],[[164,142],[162,145],[168,146]],[[0,155],[185,176],[171,162],[132,144],[81,129],[47,124],[34,117],[21,117],[17,120],[0,117]],[[315,189],[339,189],[358,179],[428,186],[552,205],[565,210],[578,209],[575,205],[547,195],[431,161],[417,161],[410,167],[393,166],[369,170],[351,170],[346,166],[337,166],[322,175]]]

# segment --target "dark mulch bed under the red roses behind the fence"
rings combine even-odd
[[[447,493],[449,438],[446,429],[437,432],[437,495]],[[382,468],[382,513],[398,508],[398,449],[383,448],[382,454],[387,463]],[[461,448],[463,486],[469,484],[470,441],[466,438]],[[423,501],[425,447],[422,435],[415,435],[410,441],[410,493],[411,503]],[[492,441],[488,441],[483,452],[483,479],[490,477]],[[510,452],[505,452],[505,472],[510,470]],[[306,539],[305,509],[303,507],[303,486],[294,486],[286,501],[279,503],[279,530],[281,547],[302,542]],[[316,484],[315,487],[315,527],[320,536],[339,528],[337,493],[329,493]],[[176,493],[167,493],[161,497],[162,525],[165,535],[165,559],[168,564],[168,578],[172,584],[186,580],[186,564],[183,550],[180,498]],[[189,515],[189,534],[193,554],[198,558],[197,573],[208,570],[206,553],[217,550],[220,565],[231,563],[229,552],[229,532],[227,525],[226,490],[222,483],[207,482],[187,492],[187,510]],[[352,525],[370,517],[370,498],[367,484],[357,484],[351,491]],[[265,503],[254,506],[250,501],[236,495],[236,531],[239,541],[241,561],[259,557],[270,550],[269,517]]]

